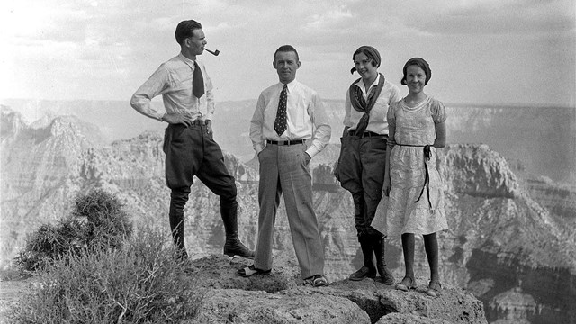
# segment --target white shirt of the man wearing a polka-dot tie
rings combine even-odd
[[[266,139],[312,139],[306,153],[314,157],[330,140],[331,127],[324,103],[310,87],[295,80],[289,83],[286,103],[288,129],[278,135],[274,130],[274,122],[283,88],[284,84],[277,83],[268,87],[258,97],[257,107],[250,121],[253,147],[259,153],[266,146]]]

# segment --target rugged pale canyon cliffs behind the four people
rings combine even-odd
[[[65,217],[78,193],[103,188],[114,193],[137,226],[167,229],[169,191],[164,180],[162,136],[138,137],[102,146],[97,130],[74,117],[32,127],[17,112],[2,109],[2,262],[23,248],[25,234]],[[338,146],[312,160],[314,207],[320,222],[326,272],[341,280],[361,266],[351,196],[332,175]],[[238,184],[238,229],[256,246],[255,161],[225,153]],[[486,145],[450,145],[438,150],[445,180],[450,229],[439,236],[441,278],[484,303],[489,322],[576,321],[574,191],[545,180],[519,179],[509,163]],[[224,231],[218,198],[199,181],[186,206],[185,234],[192,255],[221,252]],[[293,254],[284,202],[275,227],[275,253]],[[390,240],[387,261],[400,280],[401,246]],[[417,240],[416,274],[428,281],[428,261]]]

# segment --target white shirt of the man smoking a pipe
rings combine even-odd
[[[162,120],[163,113],[157,112],[150,105],[152,98],[162,94],[167,113],[177,113],[191,117],[193,120],[211,120],[214,113],[214,96],[212,82],[206,67],[196,60],[202,70],[205,94],[196,98],[192,94],[194,61],[182,53],[166,61],[148,80],[139,87],[130,100],[130,105],[138,112]]]

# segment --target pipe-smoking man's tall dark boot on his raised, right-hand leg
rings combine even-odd
[[[254,258],[254,251],[250,251],[238,238],[238,202],[226,203],[220,199],[220,215],[226,231],[224,254],[228,257]]]

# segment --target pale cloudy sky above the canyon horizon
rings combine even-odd
[[[278,81],[279,46],[297,79],[344,100],[352,54],[378,49],[400,85],[428,60],[427,94],[446,103],[576,106],[574,0],[19,0],[0,4],[0,99],[125,100],[178,54],[177,23],[202,23],[216,101],[253,99]],[[158,99],[157,99],[158,100]]]

